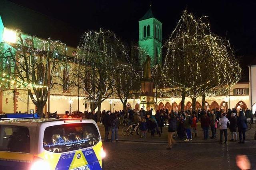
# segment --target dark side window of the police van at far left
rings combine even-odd
[[[0,150],[8,152],[30,152],[30,136],[27,127],[0,126]]]

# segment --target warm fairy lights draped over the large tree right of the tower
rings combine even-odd
[[[174,91],[185,88],[191,97],[202,94],[202,90],[212,96],[228,90],[240,79],[241,68],[229,41],[211,32],[205,16],[195,19],[184,11],[165,46],[168,50],[160,67],[161,80],[156,84],[162,84],[163,93],[172,87]],[[153,75],[156,70],[153,68]]]

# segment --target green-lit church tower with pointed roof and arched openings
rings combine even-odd
[[[139,20],[139,47],[150,56],[151,67],[162,64],[162,23],[154,18],[151,7]],[[140,62],[145,60],[139,58]]]

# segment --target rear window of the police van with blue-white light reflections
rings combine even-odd
[[[100,141],[93,123],[64,124],[47,127],[44,131],[44,149],[67,152],[92,147]]]

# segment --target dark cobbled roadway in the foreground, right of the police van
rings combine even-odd
[[[166,150],[164,143],[119,141],[104,143],[106,170],[238,170],[235,157],[246,154],[256,170],[256,141],[226,145],[177,143]]]

